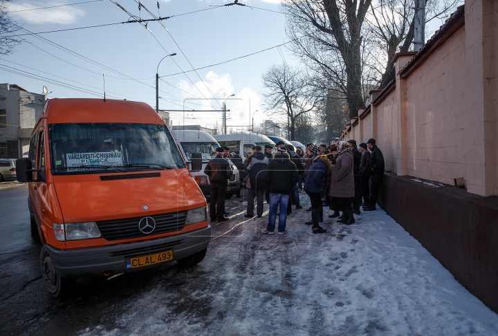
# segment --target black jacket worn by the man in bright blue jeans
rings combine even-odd
[[[297,176],[297,168],[288,153],[277,151],[266,169],[266,187],[271,194],[289,195],[297,183]]]

